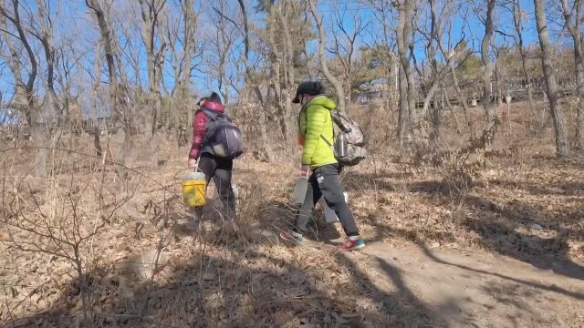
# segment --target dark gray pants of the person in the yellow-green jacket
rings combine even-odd
[[[312,215],[312,210],[320,197],[327,202],[328,207],[334,210],[339,217],[340,224],[348,236],[358,236],[359,229],[349,210],[349,205],[343,195],[343,187],[339,179],[340,167],[338,164],[325,165],[312,172],[308,179],[307,196],[298,212],[294,231],[306,233],[307,224]]]

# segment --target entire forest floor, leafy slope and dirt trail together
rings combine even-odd
[[[90,198],[78,202],[87,207],[79,236],[99,231],[80,243],[89,304],[60,256],[67,247],[23,251],[34,231],[0,226],[0,327],[79,326],[84,308],[95,327],[584,326],[584,160],[555,159],[550,128],[530,134],[525,117],[504,121],[496,151],[462,164],[455,150],[421,164],[377,138],[372,148],[383,150],[343,175],[367,242],[349,253],[336,251],[342,233],[319,212],[306,244],[277,238],[294,220],[297,153],[237,160],[241,231],[231,235],[213,189],[203,222],[193,222],[180,198],[187,149],[165,147],[159,169],[137,169],[131,192],[102,179],[99,195],[124,199],[110,217]],[[114,176],[65,169],[39,182],[4,168],[5,208],[9,199],[70,207],[84,181]],[[39,217],[58,217],[48,212]]]

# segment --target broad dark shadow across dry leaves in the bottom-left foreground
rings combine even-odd
[[[220,252],[196,253],[158,282],[134,282],[113,267],[89,272],[92,326],[445,325],[408,290],[402,272],[391,266],[384,268],[385,279],[395,291],[372,283],[352,255],[293,251],[296,255],[285,260],[260,252],[249,241],[221,247]],[[350,274],[340,275],[339,270]],[[81,318],[78,282],[71,282],[45,312],[3,326],[76,326]]]

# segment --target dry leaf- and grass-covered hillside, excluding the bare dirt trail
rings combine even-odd
[[[388,119],[373,115],[376,123]],[[533,136],[525,117],[525,108],[516,108],[511,128],[504,124],[490,149],[468,150],[464,160],[468,133],[447,127],[439,140],[443,156],[433,161],[397,151],[394,131],[370,126],[370,160],[343,176],[365,239],[387,247],[485,249],[536,265],[554,257],[581,268],[582,162],[550,156],[549,128]],[[0,227],[0,325],[76,326],[84,309],[95,327],[445,325],[371,271],[366,256],[278,241],[295,215],[295,151],[272,164],[238,160],[241,233],[233,235],[221,228],[216,200],[195,229],[179,196],[186,149],[170,141],[163,149],[161,168],[130,172],[124,195],[115,191],[114,169],[94,159],[57,153],[60,173],[36,181],[19,173],[16,153],[2,157],[3,199],[18,206],[5,206]],[[313,228],[320,238],[339,235],[320,223]],[[43,240],[43,231],[55,233]],[[62,247],[67,240],[77,251]],[[17,247],[23,241],[40,251]]]

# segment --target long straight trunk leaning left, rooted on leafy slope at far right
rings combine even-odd
[[[534,0],[534,5],[536,8],[537,35],[541,46],[541,62],[546,79],[547,98],[549,99],[549,108],[556,132],[556,149],[559,157],[566,158],[569,156],[568,131],[558,94],[558,83],[553,61],[554,46],[549,40],[547,32],[546,1]]]

